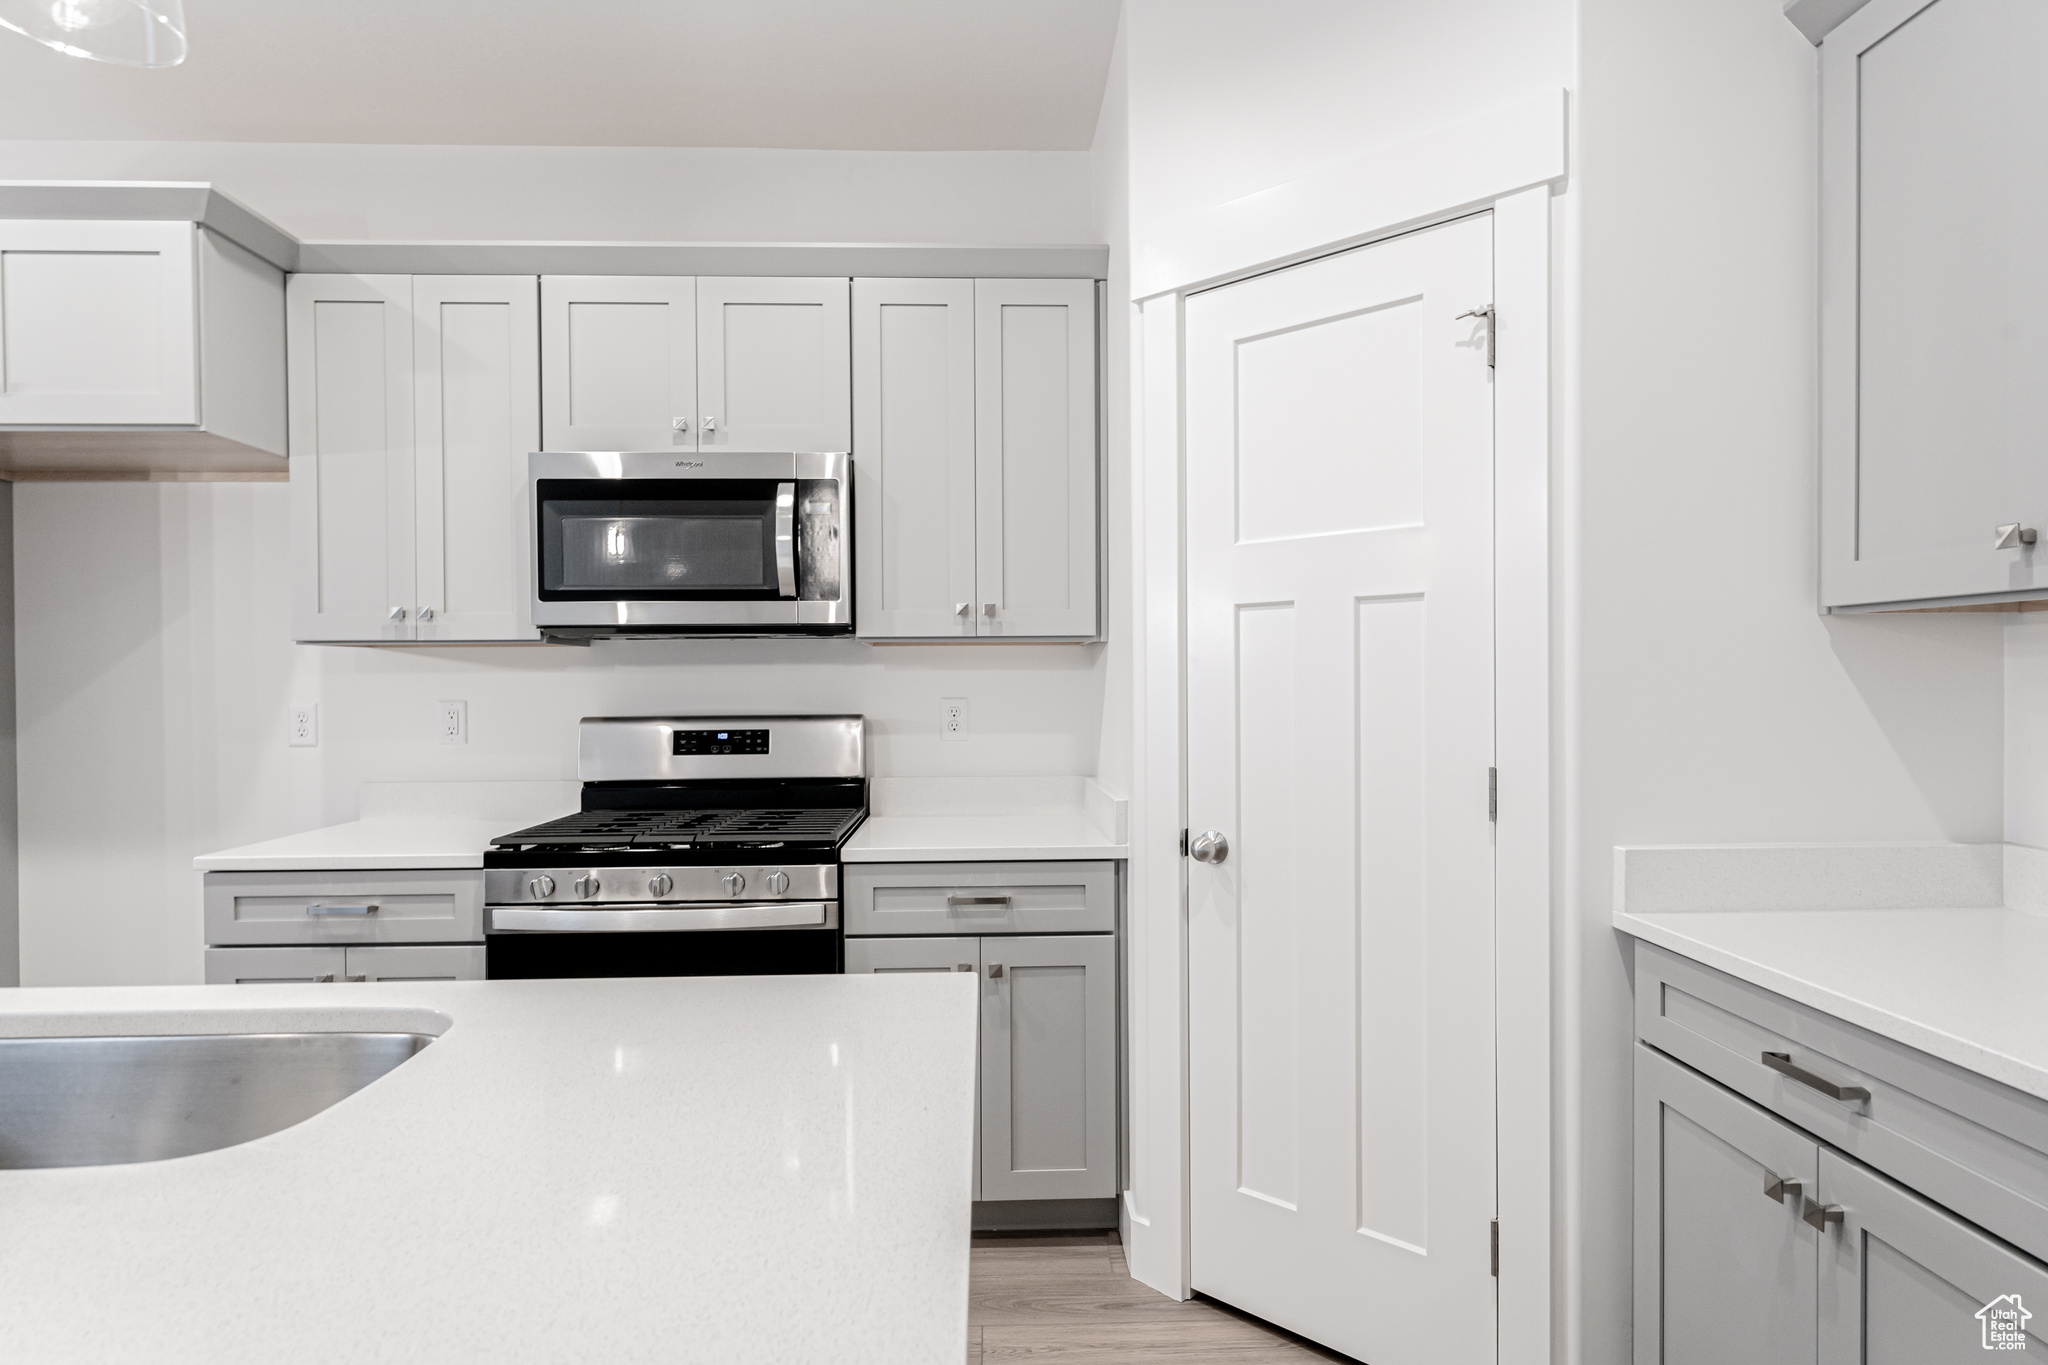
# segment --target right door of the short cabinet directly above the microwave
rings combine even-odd
[[[848,280],[696,280],[700,450],[852,450]]]

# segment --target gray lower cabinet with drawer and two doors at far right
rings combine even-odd
[[[1636,1365],[2048,1349],[2040,1101],[1647,943],[1636,1029]]]

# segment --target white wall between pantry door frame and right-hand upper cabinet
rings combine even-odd
[[[1778,0],[1579,0],[1559,473],[1573,1361],[1630,1355],[1612,847],[2001,833],[1997,618],[1815,610],[1815,80]]]

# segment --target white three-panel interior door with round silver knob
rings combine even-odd
[[[1493,223],[1186,305],[1196,1289],[1495,1359]]]

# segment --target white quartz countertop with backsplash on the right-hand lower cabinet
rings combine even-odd
[[[2044,862],[2017,845],[1616,849],[1614,927],[2048,1099]]]

